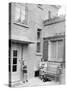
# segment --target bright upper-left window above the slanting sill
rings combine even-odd
[[[15,21],[18,23],[24,23],[25,20],[25,5],[15,5]]]

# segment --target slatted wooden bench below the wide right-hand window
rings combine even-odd
[[[60,63],[47,62],[47,71],[45,73],[45,78],[59,80],[61,71]]]

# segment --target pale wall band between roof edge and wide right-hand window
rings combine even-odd
[[[44,26],[42,37],[50,37],[56,34],[63,34],[65,32],[65,22],[60,22],[48,26]]]

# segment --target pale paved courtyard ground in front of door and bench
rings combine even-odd
[[[47,81],[43,82],[39,78],[32,78],[26,83],[19,82],[14,87],[35,87],[35,86],[45,86],[45,85],[59,85],[59,83],[55,81]]]

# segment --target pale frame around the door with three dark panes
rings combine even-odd
[[[9,51],[10,52],[12,52],[12,48],[13,48],[13,45],[16,45],[17,47],[18,47],[18,45],[20,46],[20,59],[19,59],[19,63],[20,63],[20,61],[22,61],[23,60],[23,45],[21,45],[21,44],[16,44],[16,43],[11,43],[11,47],[10,47],[10,49],[9,49]],[[19,48],[19,47],[18,47]],[[15,49],[16,50],[16,49]],[[12,53],[11,53],[12,54]],[[14,83],[14,82],[17,82],[17,81],[20,81],[21,80],[21,75],[20,75],[20,79],[19,80],[17,80],[17,81],[12,81],[12,62],[13,62],[13,60],[12,60],[12,55],[10,55],[9,56],[9,58],[10,58],[10,61],[11,61],[11,63],[10,63],[10,68],[11,68],[11,70],[10,70],[10,72],[9,72],[9,85],[11,86],[11,84],[12,83]],[[20,63],[20,73],[19,74],[21,74],[21,63]]]

